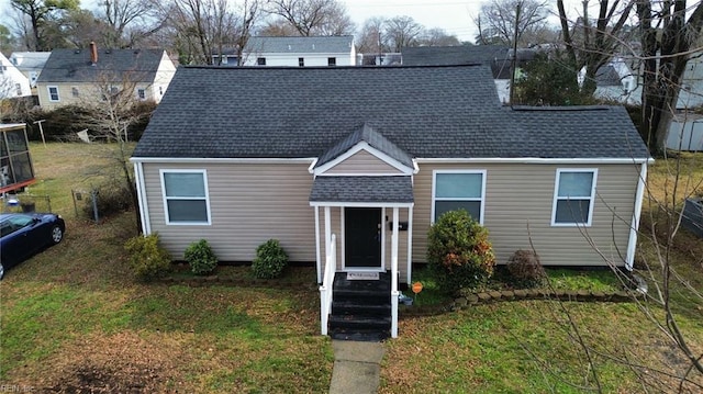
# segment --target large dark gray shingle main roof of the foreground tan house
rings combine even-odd
[[[133,156],[321,157],[364,124],[413,158],[648,157],[623,109],[512,111],[486,66],[181,67]]]

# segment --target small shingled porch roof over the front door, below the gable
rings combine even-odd
[[[316,177],[312,206],[413,206],[413,182],[398,177]]]

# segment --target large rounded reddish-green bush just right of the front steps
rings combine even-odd
[[[449,211],[429,227],[427,262],[447,293],[476,289],[493,274],[495,256],[488,230],[465,210]]]

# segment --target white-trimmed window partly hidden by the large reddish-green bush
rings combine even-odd
[[[459,209],[483,224],[486,170],[437,170],[432,182],[432,222]]]

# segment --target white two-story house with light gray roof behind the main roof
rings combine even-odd
[[[215,64],[237,66],[237,54],[214,55]],[[220,57],[220,61],[217,61]],[[354,36],[250,37],[242,53],[243,66],[355,66]]]

